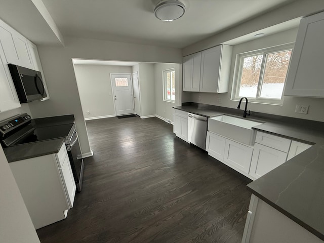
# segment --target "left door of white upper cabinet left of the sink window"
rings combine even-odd
[[[183,91],[199,92],[201,52],[183,58]]]

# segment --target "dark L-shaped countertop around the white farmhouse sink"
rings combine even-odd
[[[237,114],[194,106],[175,109],[212,117]],[[201,113],[200,113],[201,112]],[[251,118],[254,118],[251,116]],[[300,124],[265,121],[253,129],[313,145],[266,175],[248,184],[248,189],[267,204],[324,240],[324,126],[303,120]],[[293,119],[292,119],[293,120]],[[319,125],[319,126],[318,126]],[[319,129],[321,127],[321,129]],[[312,129],[316,128],[316,129]]]

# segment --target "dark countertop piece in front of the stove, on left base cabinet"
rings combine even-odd
[[[64,138],[20,144],[4,148],[9,163],[27,158],[57,153],[64,143]]]

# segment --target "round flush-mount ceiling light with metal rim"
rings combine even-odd
[[[173,21],[184,15],[186,7],[178,0],[160,1],[155,9],[155,17],[163,21]]]

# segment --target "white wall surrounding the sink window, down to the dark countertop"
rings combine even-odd
[[[203,103],[203,104],[236,108],[238,102],[230,100],[236,54],[257,50],[261,48],[276,46],[280,44],[295,42],[297,30],[298,30],[297,28],[291,29],[289,31],[284,31],[277,34],[261,37],[255,39],[254,41],[242,43],[234,46],[233,54],[232,54],[231,70],[230,70],[229,92],[224,94],[191,93],[191,101],[197,103]],[[201,97],[200,101],[198,100],[199,96]],[[217,98],[222,99],[221,104],[216,103]],[[308,114],[295,113],[296,104],[310,105]],[[269,104],[257,104],[257,103],[249,102],[248,109],[251,109],[252,111],[258,111],[258,112],[269,113],[269,114],[324,121],[324,114],[322,112],[323,107],[324,107],[324,99],[321,98],[302,98],[302,97],[287,96],[284,97],[284,104],[282,106],[269,105]]]

